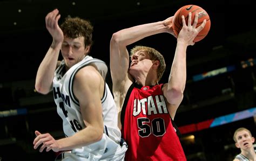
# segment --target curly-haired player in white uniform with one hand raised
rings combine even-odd
[[[60,160],[123,160],[127,147],[104,80],[107,66],[88,55],[93,27],[78,17],[66,18],[59,26],[59,18],[57,9],[45,17],[53,42],[38,68],[35,88],[42,94],[52,90],[66,137],[56,140],[35,131],[33,148],[59,152]]]

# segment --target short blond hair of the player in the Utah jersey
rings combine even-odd
[[[155,50],[154,48],[151,48],[151,47],[135,46],[131,49],[130,57],[132,57],[132,55],[134,53],[136,53],[137,51],[145,51],[147,54],[149,54],[151,60],[158,60],[160,62],[160,65],[157,69],[157,78],[158,78],[158,81],[159,81],[161,79],[161,77],[163,76],[163,74],[164,74],[165,66],[166,66],[163,55],[161,53],[159,53],[157,50]]]

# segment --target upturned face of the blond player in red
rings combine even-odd
[[[152,67],[152,60],[150,60],[149,54],[145,51],[137,51],[131,57],[130,73],[133,71],[149,72]]]

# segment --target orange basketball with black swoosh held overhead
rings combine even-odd
[[[205,25],[204,29],[198,33],[196,38],[194,38],[194,42],[200,41],[200,40],[204,39],[206,37],[207,33],[210,31],[211,20],[210,20],[208,13],[203,8],[201,8],[200,6],[197,6],[197,5],[185,5],[185,6],[181,7],[174,14],[174,17],[172,20],[172,22],[173,22],[172,28],[173,28],[174,34],[178,37],[178,34],[183,27],[182,19],[181,19],[182,15],[184,15],[185,21],[187,24],[188,12],[192,13],[191,25],[194,22],[194,15],[196,14],[196,12],[198,12],[197,27],[200,26],[204,22],[204,19],[206,19],[206,25]]]

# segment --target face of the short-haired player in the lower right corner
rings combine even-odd
[[[237,133],[237,136],[235,136],[237,139],[237,143],[235,144],[237,148],[241,149],[249,149],[251,148],[253,142],[254,142],[254,137],[252,137],[248,131],[239,131]]]

